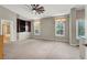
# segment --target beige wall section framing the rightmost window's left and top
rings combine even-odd
[[[85,19],[85,9],[73,8],[70,10],[70,21],[69,21],[69,43],[70,45],[78,45],[79,40],[76,39],[76,20]]]

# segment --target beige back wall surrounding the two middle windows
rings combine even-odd
[[[67,15],[62,15],[58,18],[67,18]],[[33,39],[43,39],[43,40],[55,40],[62,42],[69,42],[69,21],[65,22],[65,36],[55,36],[55,21],[54,18],[43,18],[41,21],[41,35],[34,35],[33,22],[31,23],[31,37]]]

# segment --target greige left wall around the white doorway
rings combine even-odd
[[[1,23],[1,19],[10,20],[10,22],[11,22],[11,41],[17,41],[17,14],[0,6],[0,23]],[[1,30],[0,30],[0,34],[2,34]]]

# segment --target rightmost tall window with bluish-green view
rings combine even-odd
[[[76,21],[76,37],[85,37],[85,21],[83,19]]]

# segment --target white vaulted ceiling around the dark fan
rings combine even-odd
[[[40,19],[46,17],[62,15],[69,13],[70,9],[75,4],[42,4],[45,9],[45,12],[42,14],[35,14],[31,11],[31,6],[29,8],[25,4],[3,4],[2,7],[18,13],[19,15],[25,19]]]

